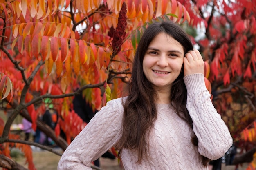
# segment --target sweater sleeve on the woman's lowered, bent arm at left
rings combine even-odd
[[[58,170],[92,170],[92,161],[115,146],[121,131],[121,100],[112,100],[75,137],[58,162]]]

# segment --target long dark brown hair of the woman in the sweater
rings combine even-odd
[[[171,22],[155,22],[150,24],[144,31],[138,44],[132,67],[131,80],[128,83],[128,97],[124,105],[124,117],[122,120],[122,136],[117,145],[119,155],[123,148],[137,150],[138,163],[141,163],[144,156],[147,157],[148,135],[152,130],[154,121],[157,119],[156,99],[157,95],[152,84],[146,79],[142,62],[150,42],[159,33],[166,33],[183,46],[184,54],[193,50],[193,44],[183,29]],[[179,117],[181,117],[192,129],[192,119],[186,108],[187,90],[183,81],[182,71],[171,86],[170,101]],[[198,146],[198,138],[194,134],[191,142]],[[202,163],[207,166],[209,159],[202,156]]]

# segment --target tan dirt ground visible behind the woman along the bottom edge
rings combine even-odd
[[[60,156],[48,151],[34,151],[33,159],[37,170],[57,170]],[[23,157],[16,159],[16,161],[27,168]],[[119,165],[117,159],[111,160],[101,157],[100,164],[103,170],[124,170]],[[244,164],[243,166],[239,166],[238,170],[246,170],[246,168],[247,164]],[[225,164],[222,164],[222,170],[235,170],[235,166],[225,166]]]

